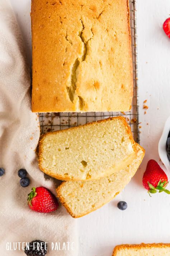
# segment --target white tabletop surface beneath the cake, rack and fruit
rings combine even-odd
[[[30,0],[11,0],[11,3],[30,46]],[[154,158],[159,162],[158,142],[170,115],[170,39],[162,30],[162,23],[170,14],[170,1],[137,0],[137,11],[140,135],[146,156],[123,193],[78,220],[79,256],[111,256],[113,247],[120,243],[170,241],[170,196],[161,193],[150,198],[142,187],[147,161]],[[28,55],[30,59],[30,48]],[[149,108],[144,115],[145,99]],[[126,211],[118,210],[116,205],[120,200],[128,203]]]

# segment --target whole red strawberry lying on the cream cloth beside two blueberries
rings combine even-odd
[[[52,212],[57,210],[57,198],[44,187],[32,188],[28,194],[28,205],[36,212]]]

